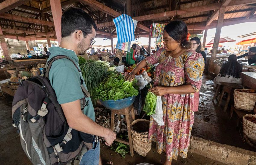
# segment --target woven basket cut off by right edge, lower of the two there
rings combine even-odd
[[[256,118],[256,115],[250,115],[247,114],[243,117],[243,131],[244,131],[244,135],[246,135],[246,137],[248,137],[248,139],[256,144],[256,122],[254,123],[249,121],[246,118]],[[251,119],[250,119],[251,120]]]

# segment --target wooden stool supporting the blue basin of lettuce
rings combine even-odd
[[[118,118],[120,117],[120,115],[124,115],[125,118],[126,118],[129,142],[127,142],[126,140],[120,139],[120,138],[116,138],[115,141],[129,145],[130,146],[130,154],[131,154],[131,156],[133,156],[133,154],[134,154],[134,152],[133,152],[133,140],[132,140],[130,115],[129,115],[130,111],[132,111],[132,118],[133,118],[133,120],[135,120],[133,105],[131,105],[130,107],[126,107],[124,109],[121,109],[121,110],[111,110],[111,130],[114,131],[114,117],[115,117],[115,114],[118,115]]]

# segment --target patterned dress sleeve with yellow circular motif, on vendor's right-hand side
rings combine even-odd
[[[196,92],[199,91],[202,84],[202,75],[204,71],[204,58],[195,51],[188,52],[184,64],[186,84],[190,84]]]

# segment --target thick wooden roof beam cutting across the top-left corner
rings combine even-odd
[[[15,7],[18,7],[29,0],[5,0],[0,3],[0,14],[5,13]]]

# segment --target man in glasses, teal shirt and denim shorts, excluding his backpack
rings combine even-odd
[[[78,65],[77,55],[84,55],[95,43],[96,24],[94,20],[82,9],[71,8],[61,17],[61,42],[59,47],[49,48],[50,61],[56,55],[65,55]],[[52,63],[49,80],[55,90],[59,104],[61,104],[68,125],[78,131],[95,135],[91,148],[83,155],[80,164],[98,165],[100,144],[98,137],[104,137],[105,144],[110,146],[116,134],[95,123],[95,113],[90,97],[85,98],[80,87],[81,72],[78,72],[72,61],[66,58],[58,59]],[[86,85],[83,80],[83,87]],[[87,88],[86,88],[87,89]],[[84,99],[81,111],[80,100]],[[95,138],[96,137],[96,138]]]

